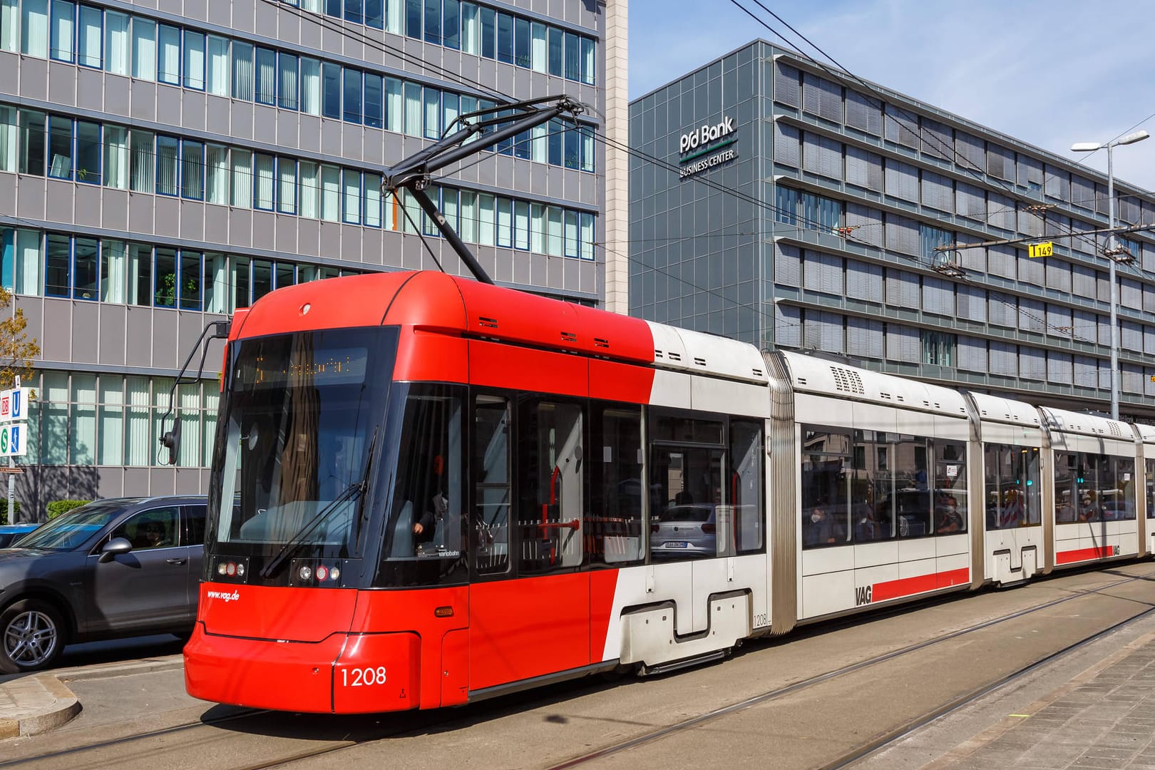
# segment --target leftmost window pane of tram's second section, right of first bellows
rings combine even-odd
[[[803,426],[802,544],[804,548],[845,545],[854,480],[850,432]]]

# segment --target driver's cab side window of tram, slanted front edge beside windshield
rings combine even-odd
[[[385,553],[401,563],[382,566],[389,584],[442,582],[461,567],[462,401],[454,390],[411,386],[404,399]]]

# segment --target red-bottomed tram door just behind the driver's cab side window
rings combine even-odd
[[[478,396],[470,689],[589,664],[582,406]]]

